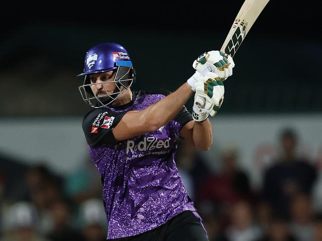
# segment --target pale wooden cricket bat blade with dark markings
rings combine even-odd
[[[269,0],[245,0],[220,51],[234,56]]]

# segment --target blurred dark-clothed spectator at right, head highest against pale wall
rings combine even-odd
[[[283,153],[265,173],[263,194],[274,212],[289,217],[291,198],[298,193],[311,193],[317,171],[308,160],[296,156],[293,130],[285,129],[280,142]]]

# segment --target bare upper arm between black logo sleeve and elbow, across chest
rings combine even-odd
[[[116,141],[123,141],[131,137],[154,131],[143,111],[129,111],[112,130]]]

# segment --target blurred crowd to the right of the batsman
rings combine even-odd
[[[221,151],[220,168],[212,172],[198,152],[181,145],[178,170],[210,241],[322,241],[319,170],[298,155],[297,144],[294,130],[280,133],[281,151],[257,190],[240,167],[236,146]]]

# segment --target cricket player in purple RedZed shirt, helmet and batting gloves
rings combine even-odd
[[[82,126],[101,174],[107,240],[209,240],[174,162],[176,136],[209,150],[208,117],[219,110],[234,62],[210,51],[193,67],[195,73],[173,93],[132,91],[136,74],[125,48],[102,43],[86,53],[84,73],[77,76],[85,77],[79,90],[92,108]],[[191,114],[184,104],[192,95]]]

